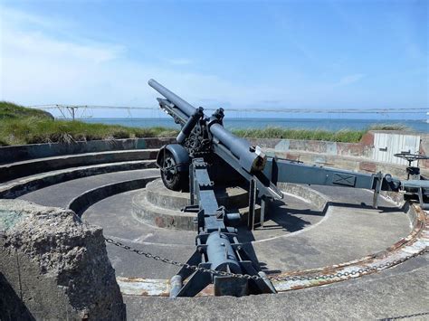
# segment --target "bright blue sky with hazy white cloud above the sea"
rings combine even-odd
[[[427,108],[428,12],[413,0],[1,0],[0,99],[156,107],[153,78],[207,108]]]

